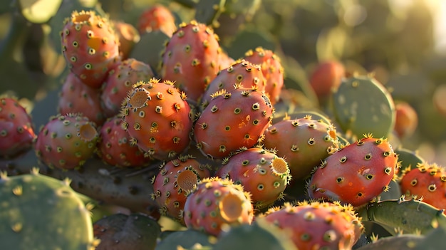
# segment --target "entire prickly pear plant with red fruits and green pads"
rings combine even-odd
[[[287,89],[274,51],[234,60],[212,28],[171,15],[154,6],[135,28],[168,37],[153,68],[129,56],[118,22],[73,11],[58,113],[37,130],[0,99],[7,249],[417,249],[445,234],[446,169],[393,147],[418,120],[373,76],[321,63],[311,86],[328,115],[276,116]],[[131,213],[93,223],[95,200]]]

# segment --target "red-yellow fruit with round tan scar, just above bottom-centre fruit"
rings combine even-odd
[[[272,150],[251,147],[224,160],[215,176],[232,179],[251,194],[256,209],[273,204],[284,197],[291,179],[288,163]]]

